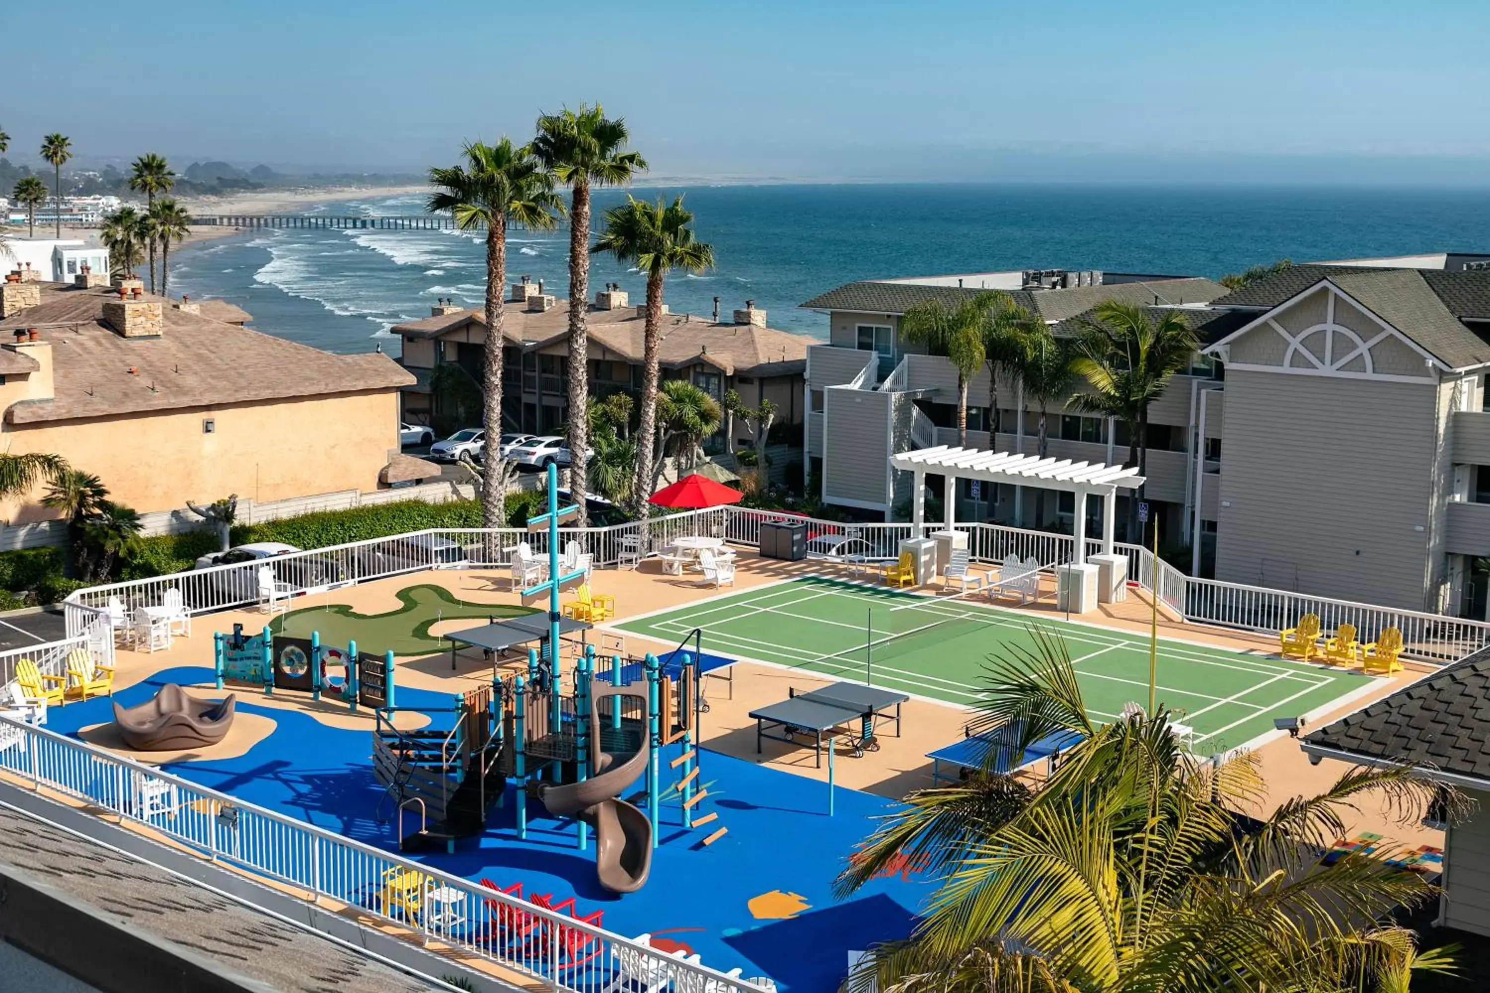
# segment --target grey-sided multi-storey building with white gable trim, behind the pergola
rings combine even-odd
[[[1484,618],[1487,264],[1435,253],[1299,265],[1232,293],[1196,278],[1021,272],[1010,292],[1056,335],[1079,333],[1106,299],[1189,319],[1201,348],[1150,408],[1144,499],[1164,543],[1193,549],[1196,572]],[[885,457],[957,444],[957,377],[901,342],[898,319],[921,299],[1012,283],[863,281],[805,304],[830,320],[828,344],[808,354],[806,451],[825,502],[904,517],[910,479]],[[968,445],[1034,454],[1039,411],[1019,384],[998,383],[997,412],[991,396],[983,371],[970,387]],[[1047,430],[1053,459],[1126,457],[1120,423],[1062,408],[1049,411]],[[1356,481],[1348,493],[1341,473]],[[1036,521],[1015,487],[958,496],[961,520],[1071,529],[1071,499]],[[1126,518],[1120,506],[1119,530]]]

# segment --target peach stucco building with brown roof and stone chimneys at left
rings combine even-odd
[[[143,290],[0,284],[0,445],[54,453],[140,512],[237,493],[255,502],[377,490],[398,454],[398,390],[384,354],[331,354],[219,320],[231,305]],[[54,518],[40,491],[0,520]]]

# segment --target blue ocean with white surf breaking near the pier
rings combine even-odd
[[[673,313],[709,316],[718,296],[727,316],[754,299],[770,326],[817,336],[827,336],[827,319],[799,304],[860,278],[1019,268],[1219,277],[1280,258],[1490,250],[1490,191],[1480,189],[788,185],[684,192],[718,268],[672,274]],[[620,191],[597,191],[596,214],[623,199]],[[308,210],[419,214],[423,197]],[[437,298],[480,305],[483,259],[478,232],[265,229],[173,253],[171,292],[228,299],[253,314],[253,326],[294,341],[370,351],[393,338],[393,325],[428,316]],[[508,277],[522,274],[565,296],[568,235],[514,232]],[[590,286],[608,281],[633,301],[644,296],[638,272],[597,256]]]

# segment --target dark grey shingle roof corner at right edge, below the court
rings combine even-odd
[[[1363,759],[1490,782],[1490,649],[1305,735]]]

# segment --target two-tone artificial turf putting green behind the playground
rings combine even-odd
[[[356,639],[359,652],[386,652],[395,655],[432,655],[450,645],[431,634],[429,628],[441,621],[457,618],[516,618],[532,613],[529,607],[510,603],[472,603],[457,600],[444,587],[420,584],[398,591],[396,610],[386,613],[358,613],[346,603],[322,607],[302,607],[276,618],[270,628],[289,637],[310,637],[320,633],[322,645],[346,645]]]

